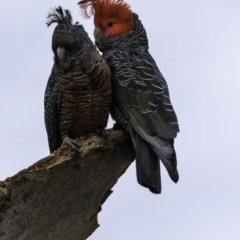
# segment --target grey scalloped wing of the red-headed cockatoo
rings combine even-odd
[[[122,111],[137,123],[144,123],[149,134],[176,137],[179,127],[168,86],[151,55],[117,51],[109,65],[114,68],[113,87]]]

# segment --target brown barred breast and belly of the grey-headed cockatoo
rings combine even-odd
[[[110,102],[110,69],[96,52],[85,68],[74,66],[59,76],[61,141],[106,127]]]

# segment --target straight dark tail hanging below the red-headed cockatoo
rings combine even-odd
[[[136,134],[136,170],[138,183],[153,193],[161,193],[160,162],[156,153]]]

